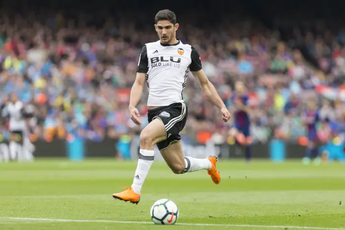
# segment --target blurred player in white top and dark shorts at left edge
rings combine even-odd
[[[29,139],[26,119],[32,117],[33,111],[26,110],[24,103],[15,93],[11,93],[10,100],[5,105],[5,114],[9,116],[8,128],[11,132],[9,151],[11,159],[18,161],[33,160],[32,144]]]

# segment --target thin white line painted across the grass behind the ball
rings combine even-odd
[[[21,220],[33,222],[70,222],[70,223],[115,223],[115,224],[149,224],[153,222],[140,221],[112,221],[112,220],[65,220],[65,219],[46,219],[46,218],[25,218],[25,217],[0,217],[3,220]],[[177,223],[183,226],[213,226],[213,227],[241,227],[241,228],[266,228],[266,229],[308,229],[308,230],[345,230],[345,228],[326,228],[326,227],[302,227],[302,226],[274,226],[274,225],[232,225],[232,224],[187,224]]]

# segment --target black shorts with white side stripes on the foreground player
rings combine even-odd
[[[162,106],[155,109],[148,110],[148,122],[154,119],[160,119],[166,130],[165,140],[158,142],[157,147],[159,150],[168,148],[173,141],[180,141],[180,131],[183,130],[187,121],[188,107],[184,102],[173,103],[168,106]]]

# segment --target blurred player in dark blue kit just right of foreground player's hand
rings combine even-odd
[[[245,148],[245,159],[249,163],[251,160],[250,145],[252,142],[250,136],[250,119],[248,107],[248,95],[242,81],[235,83],[235,92],[232,96],[232,101],[235,107],[235,127],[232,129],[231,134],[235,136],[236,143]]]

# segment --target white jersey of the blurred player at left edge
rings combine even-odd
[[[9,130],[10,131],[25,131],[26,124],[22,115],[24,104],[22,101],[8,102],[6,109],[9,115]]]

